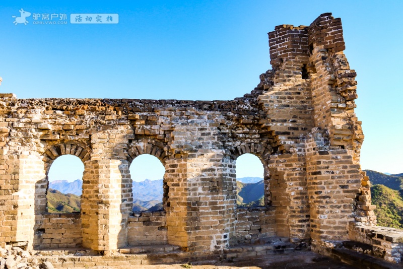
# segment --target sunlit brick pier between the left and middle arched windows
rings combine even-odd
[[[96,160],[87,167],[82,195],[83,246],[104,251],[124,247],[131,211],[122,194],[128,164],[121,160]]]

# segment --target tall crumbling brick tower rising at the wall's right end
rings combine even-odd
[[[309,219],[314,249],[346,240],[349,222],[375,225],[376,217],[360,171],[364,135],[354,113],[356,73],[343,53],[341,20],[326,13],[308,27],[280,25],[268,35],[273,70],[261,75],[258,100],[279,149],[271,156],[271,178],[293,193],[290,231],[299,233]]]

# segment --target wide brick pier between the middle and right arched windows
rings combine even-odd
[[[234,235],[234,161],[222,151],[200,150],[167,161],[168,243],[188,251],[228,247]]]

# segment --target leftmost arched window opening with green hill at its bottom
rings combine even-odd
[[[48,213],[81,211],[84,164],[79,157],[63,155],[51,164],[46,194]]]

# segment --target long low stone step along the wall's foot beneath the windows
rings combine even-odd
[[[247,258],[258,258],[266,255],[292,253],[296,249],[295,244],[284,239],[272,238],[262,245],[236,245],[223,252],[211,252],[203,255],[204,259],[229,261],[243,260]],[[39,250],[35,256],[40,260],[48,260],[55,267],[81,266],[91,267],[98,265],[118,266],[193,262],[200,259],[201,253],[182,251],[179,246],[174,245],[145,245],[129,246],[118,249],[112,256],[103,256],[98,251],[85,249],[65,249],[65,250]]]

